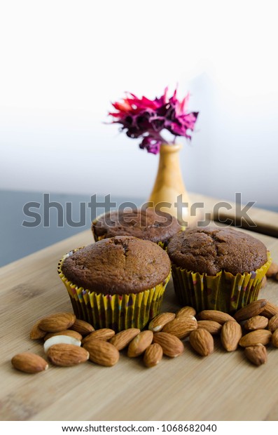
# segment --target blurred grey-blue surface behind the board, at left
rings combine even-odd
[[[96,201],[104,202],[104,196]],[[116,208],[132,199],[111,196],[112,201]],[[104,213],[104,206],[93,202],[89,195],[0,190],[0,267],[90,228],[92,219]]]

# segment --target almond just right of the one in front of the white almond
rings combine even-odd
[[[114,366],[120,358],[118,349],[104,340],[90,340],[84,344],[84,347],[90,354],[90,361],[100,366]]]

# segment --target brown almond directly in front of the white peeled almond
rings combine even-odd
[[[48,349],[48,359],[55,366],[70,367],[85,363],[89,359],[89,352],[83,347],[74,344],[53,344]]]

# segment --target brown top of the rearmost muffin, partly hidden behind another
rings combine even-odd
[[[114,236],[134,236],[155,243],[167,243],[180,230],[176,217],[152,208],[129,212],[113,210],[92,222],[92,233],[96,241]]]

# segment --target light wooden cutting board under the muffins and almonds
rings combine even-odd
[[[255,235],[278,262],[278,239]],[[216,340],[208,357],[198,356],[186,343],[181,356],[164,357],[150,369],[124,352],[111,368],[88,362],[51,366],[36,375],[12,368],[18,352],[43,356],[42,344],[29,339],[37,319],[72,311],[57,262],[72,248],[91,242],[85,231],[0,269],[1,420],[278,419],[278,349],[272,347],[260,367],[246,361],[242,350],[225,352]],[[278,283],[269,279],[260,297],[278,303]],[[178,308],[170,282],[163,310]]]

